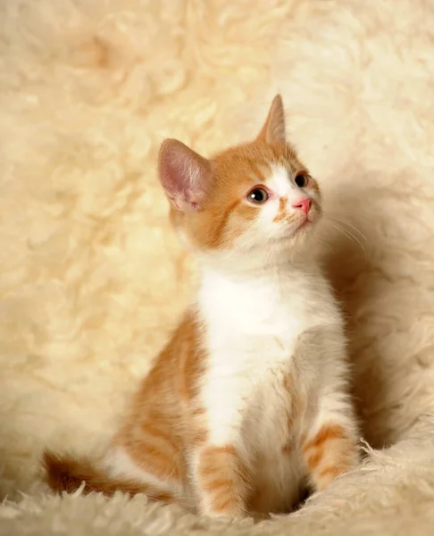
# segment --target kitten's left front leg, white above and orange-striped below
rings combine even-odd
[[[208,389],[206,431],[193,465],[199,513],[243,517],[252,476],[241,434],[245,399],[236,381],[215,381]]]

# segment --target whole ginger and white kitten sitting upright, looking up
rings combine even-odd
[[[163,142],[171,221],[196,255],[196,299],[100,466],[45,454],[46,481],[145,492],[205,515],[288,512],[358,463],[344,324],[316,259],[320,189],[285,137],[210,160]]]

